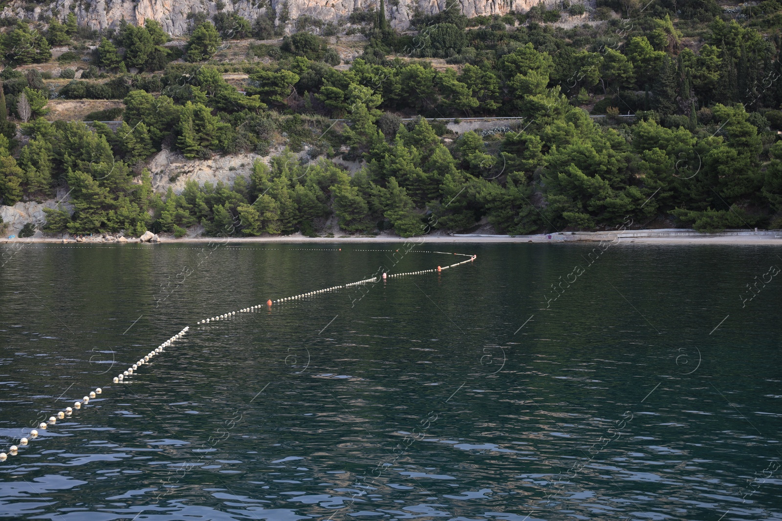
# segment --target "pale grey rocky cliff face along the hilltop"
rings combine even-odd
[[[461,10],[467,16],[503,15],[507,12],[526,12],[538,0],[459,0]],[[554,0],[546,0],[553,4]],[[396,5],[393,5],[396,4]],[[237,0],[212,2],[211,0],[55,0],[49,5],[35,4],[26,0],[12,0],[2,9],[5,17],[27,17],[42,20],[56,16],[64,20],[69,11],[74,11],[80,24],[101,30],[117,27],[123,18],[128,22],[142,23],[145,19],[157,20],[169,34],[181,36],[188,32],[188,14],[204,12],[213,16],[218,7],[224,12],[236,12],[249,20],[259,16],[271,16],[275,23],[282,23],[285,13],[289,20],[303,15],[313,16],[325,22],[338,22],[350,16],[353,11],[377,9],[379,0]],[[34,7],[34,9],[30,9]],[[445,7],[445,0],[389,0],[386,2],[386,17],[392,27],[406,29],[414,12],[436,14]]]

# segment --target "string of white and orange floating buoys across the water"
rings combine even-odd
[[[277,249],[277,248],[253,248],[253,249]],[[305,251],[308,251],[308,252],[316,252],[316,251],[317,252],[335,252],[335,251],[341,252],[342,251],[342,248],[339,248],[338,250],[334,250],[334,249],[315,249],[315,248],[296,248],[296,249],[305,250]],[[355,251],[357,251],[357,252],[388,252],[387,250],[355,250]],[[396,250],[396,251],[398,252],[399,250]],[[361,284],[368,284],[368,283],[378,282],[378,278],[382,278],[382,280],[387,280],[387,279],[392,278],[392,277],[407,277],[407,276],[411,276],[411,275],[424,275],[426,273],[441,273],[443,271],[443,269],[455,268],[456,266],[460,266],[461,264],[465,264],[467,262],[473,262],[473,261],[475,261],[475,259],[478,258],[478,255],[467,255],[465,253],[429,252],[429,251],[421,251],[421,250],[416,250],[416,252],[419,252],[419,253],[439,253],[439,254],[443,254],[443,255],[461,255],[463,257],[469,257],[469,259],[461,261],[461,262],[456,262],[455,264],[451,264],[449,266],[437,266],[436,269],[421,269],[421,270],[418,270],[418,271],[410,271],[410,272],[405,272],[405,273],[392,273],[392,274],[383,273],[382,277],[370,277],[368,279],[357,280],[356,282],[349,282],[349,283],[346,283],[346,284],[341,284],[339,286],[332,286],[332,287],[326,287],[326,288],[320,289],[320,290],[308,291],[307,293],[297,294],[297,295],[293,295],[291,297],[278,298],[277,300],[274,300],[274,301],[272,301],[271,298],[269,298],[263,305],[262,304],[251,305],[251,306],[249,306],[249,308],[239,309],[239,313],[253,312],[256,309],[262,308],[264,305],[266,305],[267,307],[271,307],[272,305],[277,304],[279,302],[288,302],[288,301],[291,301],[291,300],[300,300],[300,299],[307,298],[307,297],[314,297],[315,295],[318,295],[318,294],[325,294],[325,293],[329,293],[329,292],[332,292],[332,291],[344,289],[346,287],[353,287],[353,286],[359,286]],[[231,312],[224,313],[222,315],[211,316],[210,318],[199,320],[197,322],[197,324],[200,325],[200,324],[217,322],[218,320],[228,319],[228,318],[231,318],[232,316],[235,316],[236,313],[237,312],[235,312],[235,311],[231,311]],[[181,330],[178,334],[175,334],[173,337],[170,337],[167,341],[164,341],[163,344],[160,344],[158,347],[154,348],[152,351],[149,351],[149,353],[147,353],[146,355],[144,355],[141,358],[139,358],[138,362],[132,363],[131,366],[127,368],[127,370],[124,370],[122,373],[118,374],[117,376],[114,376],[113,379],[112,379],[112,383],[113,384],[120,384],[121,382],[124,382],[125,380],[127,380],[130,376],[132,376],[134,374],[135,371],[138,371],[139,369],[141,369],[141,366],[144,366],[145,364],[149,363],[149,361],[153,357],[162,354],[163,351],[165,350],[165,348],[169,347],[174,341],[178,341],[181,337],[183,337],[185,335],[185,333],[188,332],[189,329],[190,329],[190,327],[186,326],[185,329]],[[38,425],[38,429],[46,430],[48,428],[48,426],[55,425],[57,423],[58,419],[70,418],[74,414],[74,409],[81,409],[82,405],[88,405],[88,403],[89,403],[89,401],[91,399],[96,398],[97,395],[98,394],[102,394],[102,392],[103,392],[103,390],[102,390],[101,387],[95,387],[95,389],[89,391],[88,394],[84,396],[84,398],[81,398],[81,401],[74,401],[73,408],[66,407],[62,411],[57,412],[56,416],[50,416],[49,419],[48,419],[48,422],[41,422]],[[9,455],[16,455],[16,454],[18,454],[20,447],[26,447],[27,444],[31,440],[36,439],[38,437],[38,430],[36,430],[36,429],[30,430],[30,434],[28,434],[28,436],[29,436],[29,438],[28,437],[20,438],[18,446],[17,445],[11,445],[9,447],[9,449],[8,449],[8,453],[0,452],[0,462],[5,461],[6,459],[8,459]]]

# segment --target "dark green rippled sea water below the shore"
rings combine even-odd
[[[2,246],[0,516],[782,519],[782,249],[341,246]]]

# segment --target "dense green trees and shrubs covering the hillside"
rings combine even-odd
[[[710,0],[658,0],[640,12],[630,0],[598,5],[593,16],[614,9],[625,18],[565,30],[540,23],[561,16],[543,7],[468,20],[449,2],[414,20],[417,36],[403,36],[368,13],[358,20],[368,45],[348,70],[334,69],[339,54],[304,30],[279,47],[250,45],[246,62],[212,59],[226,40],[274,37],[266,19],[194,20],[183,50],[165,46],[157,23],[123,24],[99,39],[86,80],[54,91],[35,70],[0,74],[0,197],[12,205],[70,191],[73,208],[50,212],[47,227],[72,233],[181,236],[201,223],[218,234],[239,223],[231,230],[245,235],[316,234],[332,215],[343,230],[404,236],[468,230],[483,218],[508,234],[629,219],[782,227],[782,4],[732,13]],[[52,45],[78,36],[71,21],[50,22],[45,36],[17,23],[5,36],[9,63],[48,60]],[[436,69],[434,57],[451,66]],[[224,72],[249,80],[239,91]],[[123,99],[124,123],[116,132],[47,123],[55,95]],[[21,123],[26,144],[4,109],[30,121]],[[590,120],[587,110],[606,117]],[[636,117],[620,117],[628,112]],[[456,135],[441,122],[400,119],[418,115],[524,120]],[[251,179],[231,187],[153,194],[144,170],[162,148],[206,159],[265,155],[281,143],[271,168],[256,162]],[[324,155],[365,163],[351,177]]]

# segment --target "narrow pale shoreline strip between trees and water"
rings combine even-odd
[[[782,231],[728,230],[720,233],[701,234],[693,230],[622,230],[604,232],[556,232],[554,234],[535,235],[486,235],[454,234],[427,235],[417,237],[396,237],[383,235],[378,237],[304,237],[300,234],[284,237],[160,237],[160,242],[141,243],[138,239],[117,241],[112,239],[88,239],[77,241],[62,237],[25,237],[13,239],[4,237],[0,244],[301,244],[301,243],[404,243],[414,244],[524,244],[524,243],[590,243],[613,242],[615,244],[736,244],[736,245],[778,245],[782,246]]]

